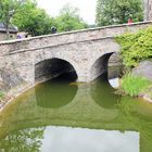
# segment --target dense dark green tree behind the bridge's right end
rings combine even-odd
[[[143,20],[141,0],[98,0],[96,22],[99,26],[127,23]]]

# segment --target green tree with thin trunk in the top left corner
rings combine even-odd
[[[10,37],[9,26],[11,18],[24,3],[24,0],[0,0],[0,21],[4,24],[7,39]]]

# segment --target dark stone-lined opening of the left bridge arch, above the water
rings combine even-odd
[[[66,60],[60,58],[51,58],[41,60],[35,64],[35,81],[46,81],[51,78],[65,75],[66,80],[76,80],[77,73],[75,67]]]

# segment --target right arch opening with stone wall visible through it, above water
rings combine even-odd
[[[123,63],[117,52],[109,52],[98,58],[90,68],[90,79],[94,80],[101,75],[106,79],[122,76]]]

